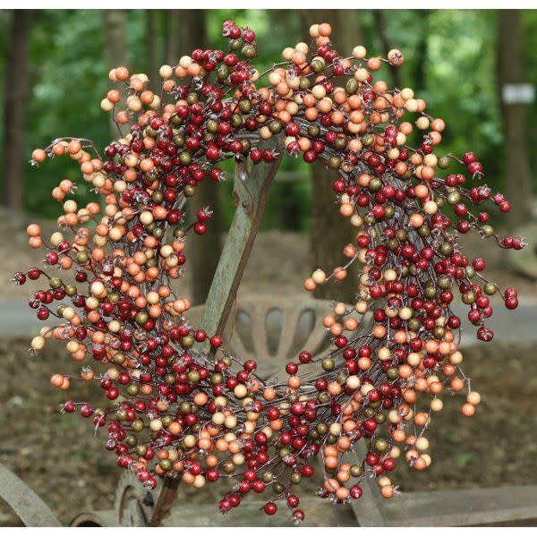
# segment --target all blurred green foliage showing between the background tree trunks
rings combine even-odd
[[[384,13],[387,35],[393,47],[405,52],[401,70],[404,85],[416,88],[429,103],[434,115],[447,122],[444,150],[461,153],[472,148],[485,163],[487,183],[504,186],[503,132],[499,114],[499,90],[496,81],[497,13],[477,10],[387,11]],[[222,21],[234,19],[250,25],[258,35],[260,71],[281,59],[283,47],[307,40],[297,11],[212,10],[207,12],[209,42],[222,43]],[[0,11],[0,73],[5,72],[9,47],[11,13]],[[145,70],[148,63],[147,13],[127,14],[129,56],[134,71]],[[385,54],[375,18],[371,11],[361,12],[365,44],[371,54]],[[163,55],[166,36],[166,13],[159,13],[162,37],[156,47]],[[537,83],[537,13],[523,14],[526,47],[527,81]],[[185,53],[188,51],[185,51]],[[43,147],[56,136],[84,136],[98,147],[106,145],[109,124],[99,102],[108,88],[105,54],[105,29],[98,10],[42,10],[34,12],[30,43],[30,98],[27,108],[26,155]],[[389,76],[389,75],[388,75]],[[0,98],[4,87],[0,88]],[[537,103],[529,107],[529,124],[537,116]],[[0,132],[0,141],[3,132]],[[529,147],[537,144],[537,130],[529,129]],[[4,144],[2,144],[4,148]],[[6,149],[2,149],[6,150]],[[9,149],[7,149],[9,150]],[[533,169],[537,155],[532,154]],[[78,180],[80,172],[68,158],[42,166],[39,176],[27,166],[25,183],[26,209],[44,217],[55,217],[57,208],[50,191],[59,179]],[[307,173],[302,160],[286,158],[284,171]],[[302,174],[303,175],[303,174]],[[92,199],[86,183],[79,182],[85,200]],[[231,183],[222,188],[224,220],[233,214]],[[264,227],[305,229],[309,219],[311,189],[302,183],[275,183],[268,200]]]

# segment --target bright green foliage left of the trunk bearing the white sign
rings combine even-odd
[[[430,14],[427,87],[434,115],[447,122],[450,152],[473,149],[486,163],[487,182],[502,186],[498,153],[501,132],[495,72],[496,13],[436,11]]]

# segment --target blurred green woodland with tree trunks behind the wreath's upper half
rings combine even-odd
[[[340,50],[359,43],[371,55],[386,55],[392,47],[403,50],[406,64],[387,73],[391,82],[411,86],[432,114],[447,121],[446,152],[473,149],[478,154],[486,164],[487,183],[506,190],[516,208],[508,227],[527,221],[537,182],[532,173],[537,152],[530,150],[537,144],[532,128],[537,103],[507,106],[500,89],[506,83],[537,82],[537,11],[0,11],[2,204],[56,217],[50,191],[58,179],[76,179],[76,166],[58,159],[36,170],[28,164],[31,149],[59,135],[84,135],[105,145],[110,130],[99,102],[109,85],[109,68],[128,64],[133,72],[158,79],[159,65],[174,65],[194,47],[223,45],[221,23],[230,18],[257,32],[260,70],[277,61],[284,47],[303,40],[313,21],[333,24]],[[337,211],[324,210],[332,203],[328,183],[323,169],[311,172],[302,159],[286,158],[261,227],[311,232],[315,266],[321,254],[329,265],[333,237],[348,233]],[[81,183],[78,192],[89,200],[92,194],[85,188]],[[232,189],[232,182],[201,189],[200,204],[217,207],[220,217],[204,238],[208,248],[197,249],[213,254],[194,255],[200,268],[196,302],[204,300],[218,237],[233,217]],[[339,252],[334,255],[338,258]]]

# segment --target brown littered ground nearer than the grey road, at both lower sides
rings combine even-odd
[[[83,510],[113,505],[122,471],[103,449],[104,435],[90,421],[58,412],[64,394],[51,388],[52,371],[74,371],[59,345],[31,357],[25,338],[0,340],[0,462],[17,473],[68,523]],[[461,400],[447,400],[430,428],[428,471],[396,470],[402,490],[439,490],[537,483],[537,362],[528,345],[479,345],[466,352],[465,372],[483,403],[472,420],[459,412]],[[81,385],[77,400],[96,399]],[[100,396],[100,394],[98,394]],[[311,480],[311,493],[313,493]],[[216,500],[210,487],[182,490],[187,501]],[[0,525],[17,524],[0,504]]]

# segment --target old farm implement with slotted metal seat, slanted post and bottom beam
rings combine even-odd
[[[269,142],[281,149],[281,140]],[[274,147],[274,146],[273,146]],[[236,300],[243,270],[260,225],[268,186],[277,172],[278,162],[254,166],[251,173],[245,164],[237,166],[234,183],[236,210],[207,303],[191,311],[190,319],[210,334],[226,334],[231,349],[243,359],[255,356],[260,374],[265,378],[283,371],[286,360],[297,350],[308,348],[317,354],[328,344],[320,317],[328,309],[323,301],[298,297],[249,296]],[[362,443],[356,455],[362,460]],[[123,473],[114,509],[81,513],[72,526],[156,526],[176,525],[246,525],[257,524],[260,502],[245,501],[241,513],[226,519],[213,516],[199,505],[174,509],[178,480],[160,482],[148,491],[130,473]],[[500,489],[449,490],[403,493],[396,499],[380,499],[377,485],[365,480],[364,494],[351,505],[356,524],[363,526],[406,525],[475,525],[523,522],[537,517],[537,486]],[[4,499],[29,526],[61,525],[45,502],[7,468],[0,465],[0,498]],[[319,508],[320,500],[304,499],[303,505]],[[326,504],[322,504],[323,507]],[[336,513],[336,514],[330,514]],[[249,516],[251,514],[251,516]],[[246,523],[246,524],[245,524]],[[262,525],[279,525],[269,517]],[[323,509],[320,525],[337,525],[337,510]]]

